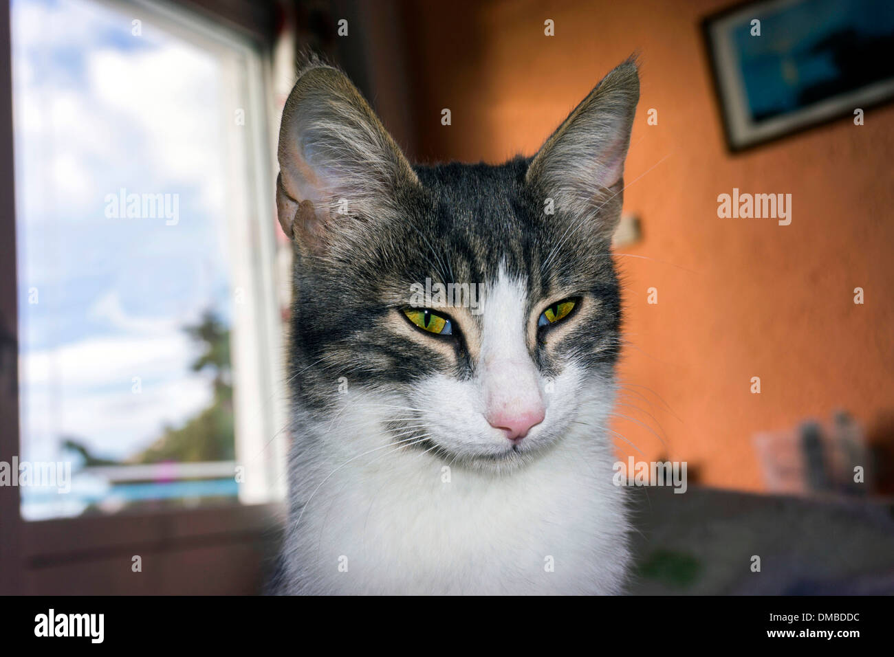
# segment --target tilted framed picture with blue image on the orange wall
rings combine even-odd
[[[764,0],[703,22],[730,150],[894,97],[894,2]]]

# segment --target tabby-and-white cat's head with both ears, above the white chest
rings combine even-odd
[[[595,434],[620,350],[610,246],[638,96],[623,63],[533,158],[412,166],[342,72],[302,72],[277,209],[305,417],[362,413],[414,450],[501,469],[575,425]]]

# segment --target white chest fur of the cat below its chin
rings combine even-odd
[[[620,592],[627,522],[607,443],[571,435],[503,475],[387,451],[305,454],[293,470],[309,502],[291,518],[292,593]]]

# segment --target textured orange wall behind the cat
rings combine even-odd
[[[534,153],[605,72],[640,52],[624,206],[641,217],[644,239],[620,249],[637,257],[617,258],[629,342],[621,375],[632,391],[625,403],[654,419],[619,412],[662,434],[669,450],[637,422],[615,426],[646,459],[670,453],[699,467],[706,484],[760,490],[755,432],[837,408],[871,425],[894,407],[894,107],[868,111],[863,127],[844,118],[730,156],[699,28],[726,4],[403,9],[413,155],[424,161]],[[450,127],[440,123],[443,107]],[[645,122],[652,107],[657,126]],[[790,193],[791,225],[718,218],[717,196],[733,187]],[[863,306],[853,303],[857,286]],[[649,287],[657,305],[646,304]],[[752,376],[761,394],[749,392]]]

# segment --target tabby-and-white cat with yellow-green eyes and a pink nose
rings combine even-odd
[[[628,60],[533,157],[411,165],[344,73],[300,72],[278,593],[623,592],[610,247],[638,98]]]

